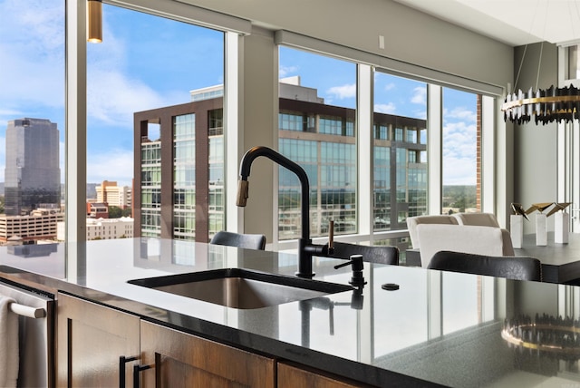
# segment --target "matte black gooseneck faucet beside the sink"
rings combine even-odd
[[[250,175],[252,162],[258,156],[265,156],[269,160],[291,170],[300,179],[302,191],[301,200],[301,218],[302,218],[302,238],[298,240],[298,272],[296,276],[312,278],[312,257],[315,255],[332,256],[333,255],[333,228],[330,228],[329,242],[324,245],[312,243],[310,238],[310,184],[306,171],[297,163],[289,160],[275,150],[264,146],[253,147],[247,150],[239,166],[239,181],[237,183],[237,206],[245,207],[248,196],[247,177]],[[332,224],[331,224],[332,225]]]

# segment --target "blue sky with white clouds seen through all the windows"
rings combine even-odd
[[[0,0],[0,181],[6,122],[49,119],[61,131],[64,170],[64,2]],[[103,5],[103,43],[88,44],[89,182],[130,185],[133,112],[189,102],[189,91],[223,82],[223,34]],[[353,63],[284,49],[280,77],[300,75],[329,104],[355,106]],[[375,78],[375,111],[425,118],[425,84]],[[475,184],[475,96],[446,91],[446,184]],[[63,171],[62,171],[63,173]]]

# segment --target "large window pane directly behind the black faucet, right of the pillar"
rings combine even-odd
[[[311,236],[357,231],[356,65],[280,47],[279,150],[310,181]],[[300,184],[279,173],[278,237],[300,237]]]

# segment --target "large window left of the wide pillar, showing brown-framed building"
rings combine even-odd
[[[225,219],[224,33],[112,5],[103,19],[87,46],[87,180],[133,188],[136,236],[208,241]]]

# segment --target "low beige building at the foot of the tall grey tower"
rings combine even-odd
[[[23,244],[55,239],[61,221],[63,213],[58,207],[34,209],[26,216],[0,215],[0,243],[10,238],[20,238]]]

